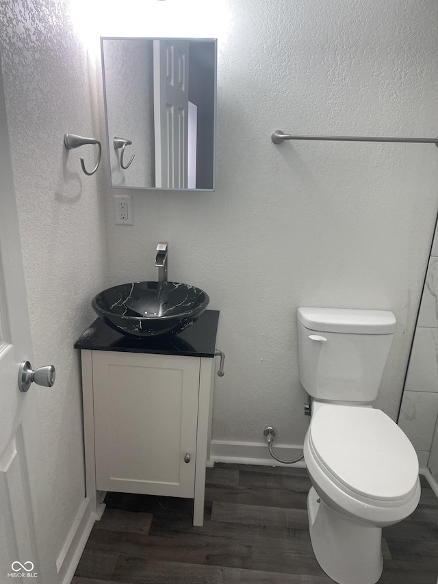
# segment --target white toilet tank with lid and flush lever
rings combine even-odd
[[[386,310],[298,308],[300,381],[314,398],[368,402],[378,394],[396,317]]]

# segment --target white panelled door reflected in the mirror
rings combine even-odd
[[[155,186],[188,186],[189,41],[153,41]]]

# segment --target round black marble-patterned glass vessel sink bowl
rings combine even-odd
[[[130,282],[92,299],[94,312],[124,335],[177,335],[203,314],[209,303],[200,288],[178,282]]]

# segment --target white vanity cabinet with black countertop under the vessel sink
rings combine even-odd
[[[108,328],[97,321],[94,333]],[[150,341],[121,338],[116,348],[102,350],[102,342],[90,342],[90,329],[75,346],[81,348],[86,489],[96,514],[107,491],[185,497],[194,499],[194,525],[202,525],[214,349],[207,356],[159,354],[150,352]],[[197,353],[181,347],[179,353]]]

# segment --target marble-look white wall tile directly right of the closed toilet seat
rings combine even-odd
[[[437,416],[438,393],[404,392],[398,425],[415,450],[430,450]]]

